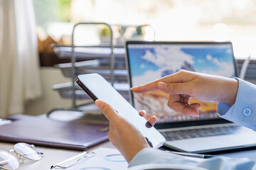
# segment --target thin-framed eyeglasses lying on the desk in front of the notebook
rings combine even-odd
[[[10,152],[14,152],[18,159]],[[37,152],[34,145],[17,143],[14,145],[14,149],[11,149],[9,152],[0,150],[0,169],[16,170],[19,167],[20,161],[23,162],[23,158],[38,161],[42,157],[43,153]]]

